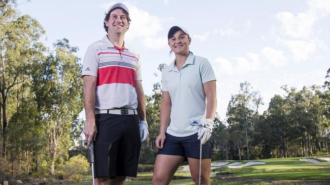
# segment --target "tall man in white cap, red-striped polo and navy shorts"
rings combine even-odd
[[[94,144],[96,184],[136,177],[141,142],[149,135],[139,54],[124,42],[129,23],[125,5],[111,6],[104,19],[108,35],[92,43],[84,57],[83,131],[87,145]]]

